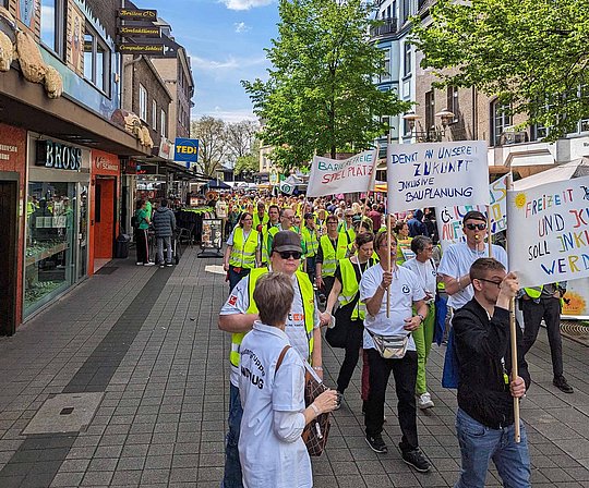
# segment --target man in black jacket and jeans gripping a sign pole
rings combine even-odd
[[[514,398],[530,385],[528,365],[518,347],[518,376],[510,376],[509,301],[519,283],[493,258],[470,268],[474,297],[453,318],[459,365],[456,430],[462,469],[455,488],[483,488],[492,459],[508,488],[530,487],[530,459],[522,424],[515,442]],[[521,330],[517,342],[521,343]]]

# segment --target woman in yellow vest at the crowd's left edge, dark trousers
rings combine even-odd
[[[227,240],[223,269],[229,279],[229,293],[261,261],[259,232],[252,227],[253,217],[245,211]]]

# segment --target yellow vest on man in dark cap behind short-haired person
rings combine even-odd
[[[248,296],[250,298],[250,303],[248,306],[248,309],[245,310],[247,314],[257,314],[260,310],[257,309],[257,304],[253,300],[253,292],[255,290],[255,283],[257,279],[267,273],[267,268],[255,268],[252,269],[248,277]],[[309,277],[301,271],[296,271],[294,276],[297,277],[297,282],[299,284],[299,292],[301,293],[301,300],[303,303],[303,312],[304,312],[304,330],[306,332],[306,339],[309,341],[309,363],[311,363],[311,354],[313,353],[313,327],[314,327],[314,312],[315,312],[315,294],[313,291],[313,285],[311,284],[311,281],[309,280]],[[233,333],[231,334],[231,352],[229,353],[229,361],[233,366],[239,366],[239,349],[241,345],[241,342],[243,341],[243,338],[245,337],[247,332],[240,332],[240,333]]]

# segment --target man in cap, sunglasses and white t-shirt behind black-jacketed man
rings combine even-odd
[[[470,284],[470,267],[477,259],[489,257],[489,246],[484,242],[488,234],[485,216],[478,210],[468,211],[462,219],[462,232],[466,242],[449,245],[437,268],[437,274],[448,294],[448,306],[455,310],[474,295]],[[508,269],[507,253],[503,247],[492,244],[492,257]]]

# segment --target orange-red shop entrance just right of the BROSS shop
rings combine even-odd
[[[96,178],[94,196],[94,271],[112,259],[116,179]]]

